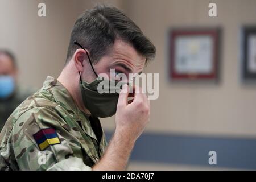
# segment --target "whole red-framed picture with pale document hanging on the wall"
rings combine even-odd
[[[218,81],[220,28],[170,31],[172,81]]]

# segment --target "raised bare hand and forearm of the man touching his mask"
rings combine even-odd
[[[142,89],[134,86],[134,99],[128,104],[128,86],[124,85],[117,104],[115,133],[100,162],[93,170],[125,170],[134,143],[150,118],[150,101]]]

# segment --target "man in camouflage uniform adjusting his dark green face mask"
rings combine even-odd
[[[115,7],[96,6],[76,20],[59,78],[20,105],[0,134],[3,170],[123,170],[135,140],[150,118],[141,88],[128,103],[121,93],[99,93],[100,73],[140,73],[155,56],[154,45]],[[110,80],[109,80],[110,81]],[[108,148],[98,117],[115,114]]]

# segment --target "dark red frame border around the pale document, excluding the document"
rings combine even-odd
[[[175,39],[178,36],[204,36],[209,35],[213,38],[213,69],[212,72],[202,74],[202,73],[177,73],[175,72]],[[220,49],[220,28],[213,28],[213,29],[191,29],[191,30],[172,30],[170,31],[170,77],[171,80],[181,81],[181,80],[212,80],[218,81],[218,66],[219,66],[219,51]]]

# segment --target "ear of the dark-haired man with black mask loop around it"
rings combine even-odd
[[[73,55],[73,61],[76,65],[76,68],[79,72],[84,71],[84,64],[86,64],[87,60],[86,52],[84,49],[77,49]]]

